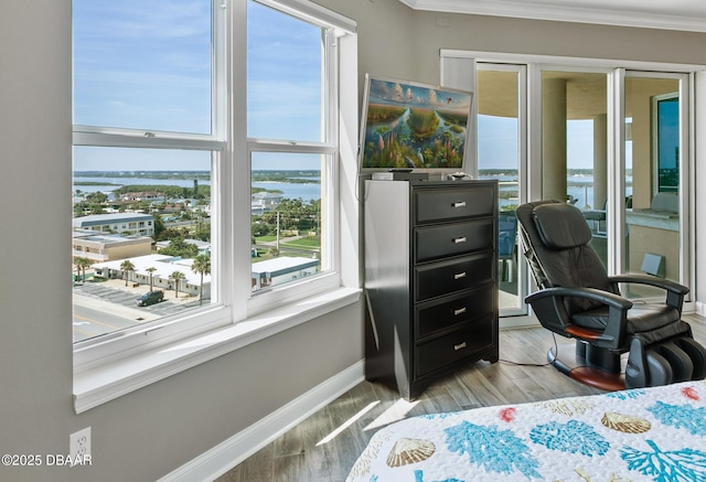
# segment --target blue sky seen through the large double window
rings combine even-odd
[[[74,124],[211,133],[211,4],[74,0]],[[248,24],[248,136],[320,140],[321,29],[255,2]],[[74,170],[207,170],[208,158],[78,147]],[[318,169],[303,158],[296,169]],[[257,163],[291,167],[271,156]]]

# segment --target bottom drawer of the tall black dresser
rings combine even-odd
[[[454,331],[415,347],[415,375],[421,377],[492,346],[494,321],[479,320],[463,330]]]

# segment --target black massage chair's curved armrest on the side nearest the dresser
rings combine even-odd
[[[608,291],[593,288],[545,288],[525,298],[525,302],[532,304],[539,322],[547,330],[554,331],[567,338],[577,338],[573,326],[570,314],[566,311],[563,298],[586,298],[608,307],[608,325],[602,331],[596,331],[590,336],[591,343],[598,346],[617,350],[622,346],[625,336],[628,310],[632,302]],[[578,336],[584,339],[582,336]]]

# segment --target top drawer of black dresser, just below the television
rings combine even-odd
[[[495,190],[492,185],[414,191],[417,224],[457,217],[492,216],[495,213]]]

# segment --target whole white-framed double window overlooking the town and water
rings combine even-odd
[[[74,0],[77,366],[340,286],[341,19],[301,0]]]

